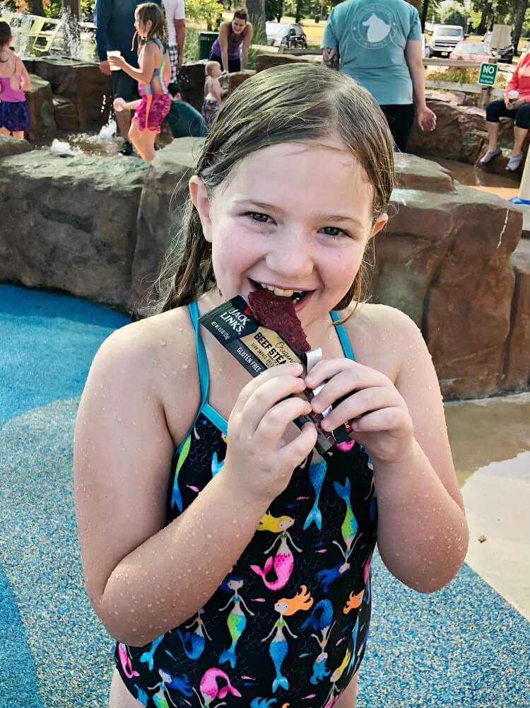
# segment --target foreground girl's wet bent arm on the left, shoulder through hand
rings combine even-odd
[[[103,344],[76,421],[76,508],[88,595],[108,632],[134,646],[178,627],[213,595],[276,496],[277,486],[258,493],[257,485],[270,484],[271,475],[276,479],[283,456],[287,459],[300,445],[267,452],[259,431],[254,436],[245,431],[240,446],[260,450],[263,462],[233,464],[229,445],[222,474],[166,525],[173,440],[185,438],[200,406],[195,334],[186,314],[171,316],[178,341],[151,318],[117,331]],[[175,321],[183,332],[176,334]],[[190,366],[180,367],[175,357]],[[277,401],[294,392],[295,384],[296,392],[303,389],[301,379],[275,379]],[[168,391],[171,398],[165,399]],[[289,403],[294,405],[302,404]],[[290,420],[307,409],[300,411]],[[258,409],[256,420],[266,412]],[[168,421],[178,421],[179,428],[170,432]],[[237,447],[237,428],[234,435]],[[314,445],[311,431],[302,435],[299,440]],[[300,461],[306,454],[304,445]],[[243,459],[241,454],[237,459]],[[258,479],[239,481],[245,469],[260,469],[260,464],[267,464],[270,473],[267,467]]]

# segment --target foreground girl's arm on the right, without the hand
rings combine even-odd
[[[395,341],[401,341],[396,388],[407,404],[414,440],[403,459],[374,463],[378,546],[391,573],[411,588],[431,593],[459,571],[468,527],[429,350],[408,316],[391,313]]]

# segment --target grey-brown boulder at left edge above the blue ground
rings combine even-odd
[[[32,150],[1,161],[0,280],[124,307],[147,166]]]

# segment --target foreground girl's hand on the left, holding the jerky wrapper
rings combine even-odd
[[[241,390],[229,418],[223,474],[236,493],[272,501],[289,484],[294,468],[313,450],[316,428],[308,423],[285,442],[289,423],[311,412],[300,364],[264,371]]]

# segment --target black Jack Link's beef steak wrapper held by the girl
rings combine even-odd
[[[305,376],[305,356],[302,360],[279,334],[258,324],[243,297],[233,297],[204,314],[199,321],[253,377],[273,366],[289,362],[301,364]],[[310,389],[306,389],[305,394],[309,401],[316,395]],[[318,433],[316,450],[321,455],[326,455],[333,445],[337,442],[347,442],[350,437],[346,426],[336,428],[333,433],[324,432],[320,427],[322,420],[321,414],[311,413],[309,416],[296,418],[294,423],[299,428],[305,423],[313,423]]]

